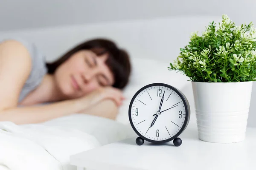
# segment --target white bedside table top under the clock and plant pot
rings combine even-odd
[[[196,125],[180,135],[179,147],[146,141],[138,146],[136,137],[73,155],[70,164],[78,170],[256,170],[256,128],[231,144],[199,140]]]

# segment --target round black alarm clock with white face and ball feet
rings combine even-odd
[[[177,88],[164,84],[145,85],[134,94],[129,105],[129,120],[139,136],[138,145],[144,140],[166,143],[173,140],[180,146],[178,136],[186,129],[190,119],[190,107],[186,96]]]

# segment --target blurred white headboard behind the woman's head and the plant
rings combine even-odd
[[[52,61],[75,44],[95,37],[110,38],[126,48],[131,57],[170,62],[188,43],[191,32],[204,31],[221,16],[177,16],[0,32],[0,38],[21,36],[35,42]]]

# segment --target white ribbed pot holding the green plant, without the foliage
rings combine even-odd
[[[245,138],[253,82],[192,82],[199,139],[233,143]]]

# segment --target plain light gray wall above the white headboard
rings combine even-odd
[[[0,0],[0,31],[177,15],[256,23],[255,0]]]

